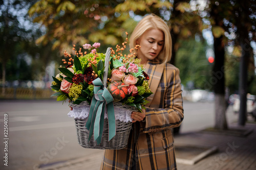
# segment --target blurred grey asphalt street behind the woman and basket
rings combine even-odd
[[[80,147],[74,120],[67,116],[68,103],[62,105],[62,102],[55,100],[2,100],[0,108],[0,136],[3,141],[0,144],[0,157],[4,160],[1,161],[1,169],[36,169],[39,165],[87,156],[93,159],[94,155],[103,154],[103,150]],[[228,123],[238,117],[231,108],[228,108],[226,115]],[[4,133],[6,124],[8,134]],[[213,125],[213,102],[184,101],[180,133],[199,131]],[[7,159],[3,158],[6,155]],[[95,161],[100,159],[95,158]]]

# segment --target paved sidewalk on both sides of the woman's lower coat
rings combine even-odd
[[[199,131],[180,134],[175,136],[175,146],[177,146],[177,166],[179,170],[254,170],[256,169],[256,124],[247,124],[244,127],[238,127],[236,124],[229,125],[229,129],[241,129],[251,133],[238,136],[230,134],[219,134],[209,131]],[[180,146],[192,146],[196,148],[217,148],[218,151],[199,159],[195,164],[179,163],[178,159],[191,159],[196,157],[195,152],[185,150],[180,153]],[[90,157],[77,158],[69,161],[63,161],[53,165],[39,168],[40,170],[51,169],[90,169],[98,170],[100,168],[102,152],[90,155]],[[194,154],[194,155],[193,155]],[[182,157],[183,156],[183,157]],[[182,162],[182,161],[181,161]]]

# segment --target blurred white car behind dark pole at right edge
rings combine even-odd
[[[239,95],[233,96],[233,111],[238,113],[240,110],[240,98]],[[256,110],[255,95],[247,94],[247,114],[252,114]],[[255,115],[256,116],[256,115]]]

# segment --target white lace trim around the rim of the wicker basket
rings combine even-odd
[[[72,104],[71,104],[72,105]],[[72,105],[73,110],[71,110],[68,115],[69,117],[84,119],[87,118],[90,111],[90,105],[82,104],[82,105]],[[120,120],[121,122],[132,122],[131,114],[133,111],[136,111],[134,108],[126,108],[122,105],[115,105],[115,118],[116,120]],[[108,113],[105,109],[104,118],[108,118]]]

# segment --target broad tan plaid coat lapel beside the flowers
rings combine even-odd
[[[165,66],[165,63],[155,64],[155,65],[149,64],[149,63],[146,64],[145,72],[150,77],[150,80],[148,80],[148,85],[150,86],[150,89],[153,92],[153,94],[151,94],[146,98],[146,100],[150,102],[145,105],[147,107],[151,105],[151,102],[157,91],[157,87],[159,86],[159,83],[163,74],[164,66]]]

